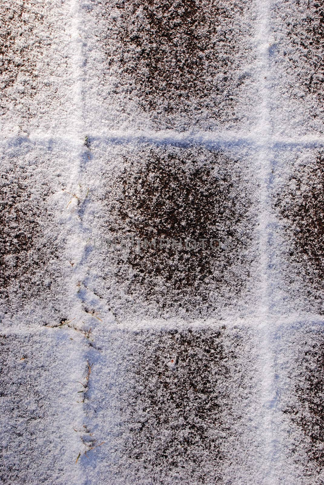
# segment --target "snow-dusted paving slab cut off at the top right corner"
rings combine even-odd
[[[323,2],[274,1],[270,26],[276,131],[285,136],[323,135]]]

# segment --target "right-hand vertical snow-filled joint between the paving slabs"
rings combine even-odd
[[[273,348],[274,336],[270,319],[272,307],[273,284],[271,282],[271,253],[269,251],[269,241],[272,233],[273,221],[275,216],[271,208],[271,193],[269,183],[273,169],[273,150],[284,142],[276,140],[272,136],[272,126],[270,122],[270,88],[269,82],[271,72],[269,68],[269,0],[262,0],[259,3],[258,11],[258,31],[256,36],[257,42],[257,77],[259,79],[259,88],[262,101],[259,107],[259,123],[256,130],[257,136],[262,140],[259,145],[259,156],[257,159],[257,173],[260,181],[260,214],[259,214],[259,251],[260,265],[258,274],[261,276],[259,298],[259,311],[262,319],[259,324],[259,348],[258,365],[261,375],[260,382],[260,417],[258,420],[259,440],[262,444],[263,455],[263,481],[264,485],[278,484],[278,463],[276,463],[277,444],[276,435],[280,423],[276,422],[276,379],[275,379],[275,350]],[[276,140],[276,142],[275,142]],[[285,141],[287,144],[287,141]],[[288,146],[296,146],[296,140],[289,140]],[[257,418],[258,419],[258,418]],[[280,473],[280,472],[279,472]]]

